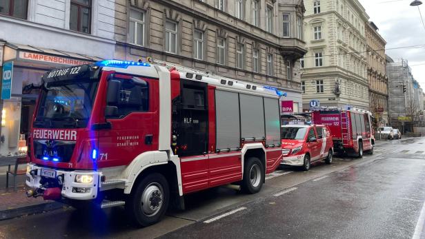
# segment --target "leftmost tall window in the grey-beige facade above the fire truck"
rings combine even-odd
[[[130,43],[144,45],[145,13],[130,9]]]

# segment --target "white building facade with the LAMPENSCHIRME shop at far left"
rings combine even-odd
[[[116,58],[114,14],[109,0],[0,1],[0,72],[13,65],[1,99],[0,155],[25,153],[37,92],[23,94],[24,85],[55,67]]]

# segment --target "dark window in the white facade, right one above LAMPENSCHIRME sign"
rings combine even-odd
[[[71,0],[70,30],[90,34],[91,0]]]

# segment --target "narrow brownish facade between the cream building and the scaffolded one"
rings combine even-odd
[[[386,76],[386,41],[372,21],[365,25],[367,41],[369,109],[377,118],[376,126],[388,125],[388,77]]]

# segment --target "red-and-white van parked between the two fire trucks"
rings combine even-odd
[[[326,125],[284,125],[281,130],[281,165],[310,169],[311,163],[333,160],[333,141]]]

